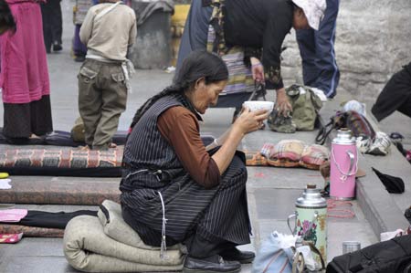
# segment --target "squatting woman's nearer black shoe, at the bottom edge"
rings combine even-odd
[[[200,259],[187,256],[184,261],[183,273],[237,273],[240,270],[240,263],[225,261],[217,255],[212,259]]]

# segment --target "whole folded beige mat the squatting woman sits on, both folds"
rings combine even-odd
[[[64,254],[71,267],[85,272],[158,272],[183,268],[184,249],[168,247],[160,258],[160,247],[143,244],[140,236],[121,217],[121,206],[104,201],[98,217],[82,215],[68,222]]]

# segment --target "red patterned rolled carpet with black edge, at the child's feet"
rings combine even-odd
[[[3,145],[0,171],[12,175],[121,176],[123,146],[108,151]]]

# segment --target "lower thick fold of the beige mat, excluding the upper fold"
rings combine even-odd
[[[155,272],[179,271],[184,255],[167,250],[168,258],[160,258],[159,250],[131,247],[106,236],[98,217],[81,215],[71,219],[63,239],[68,264],[85,272]]]

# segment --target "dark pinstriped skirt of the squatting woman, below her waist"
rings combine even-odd
[[[134,176],[121,181],[121,208],[125,222],[145,244],[161,245],[163,205],[167,245],[184,242],[193,234],[212,242],[249,243],[247,169],[239,156],[233,158],[221,184],[209,190],[195,183],[188,174],[161,188],[132,188],[133,184],[142,184],[138,180]]]

